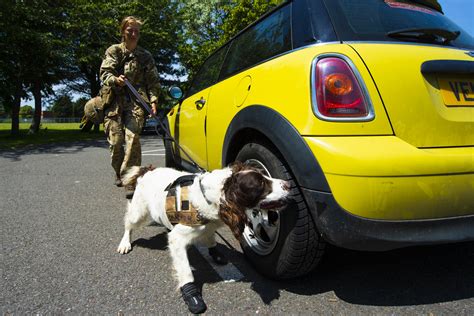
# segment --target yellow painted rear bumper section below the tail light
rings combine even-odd
[[[398,137],[306,137],[338,204],[353,215],[416,220],[472,214],[474,148],[418,149]]]

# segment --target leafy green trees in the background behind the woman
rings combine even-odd
[[[19,133],[21,99],[32,98],[30,132],[39,130],[53,86],[94,97],[119,23],[142,19],[140,45],[156,62],[163,88],[192,78],[215,49],[282,0],[3,0],[0,3],[0,108]],[[163,99],[163,98],[162,98]],[[83,102],[83,101],[81,101]]]

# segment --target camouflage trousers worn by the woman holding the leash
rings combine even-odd
[[[106,111],[104,130],[109,142],[112,168],[120,177],[126,169],[141,165],[140,132],[144,111],[137,106],[129,106],[121,114],[117,112]]]

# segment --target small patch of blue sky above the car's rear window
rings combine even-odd
[[[474,37],[474,0],[438,0],[444,15]]]

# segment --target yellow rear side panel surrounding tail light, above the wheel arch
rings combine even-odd
[[[311,63],[317,56],[336,53],[350,58],[363,78],[375,111],[375,118],[372,121],[335,124],[322,121],[313,113]],[[268,76],[270,72],[272,75]],[[248,85],[242,85],[242,81]],[[211,169],[222,167],[221,150],[229,123],[238,111],[250,105],[262,105],[274,109],[291,122],[301,135],[393,134],[370,74],[349,45],[314,45],[243,71],[213,87],[208,105],[212,110],[208,109],[207,116],[208,135],[212,135],[207,138]]]

